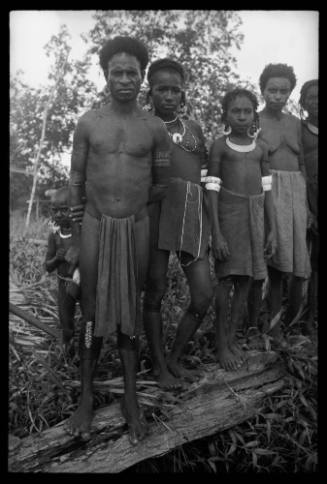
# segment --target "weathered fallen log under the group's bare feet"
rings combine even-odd
[[[203,369],[200,381],[178,393],[174,403],[169,402],[168,392],[147,387],[161,412],[158,416],[147,407],[152,412],[147,415],[149,434],[136,447],[128,440],[119,403],[114,402],[95,412],[89,442],[66,434],[64,422],[16,442],[9,449],[10,472],[120,472],[253,417],[265,397],[285,385],[283,363],[272,351],[249,351],[238,371],[227,372],[216,364]],[[144,404],[142,398],[139,401]]]

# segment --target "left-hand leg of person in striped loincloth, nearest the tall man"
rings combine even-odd
[[[162,388],[180,386],[169,372],[162,339],[161,301],[167,286],[169,252],[152,248],[144,298],[144,328],[153,365],[153,375]]]

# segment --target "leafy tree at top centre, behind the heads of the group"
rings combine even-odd
[[[220,126],[220,100],[240,83],[231,47],[240,48],[243,34],[237,12],[224,10],[110,10],[94,14],[95,26],[84,38],[97,54],[108,37],[131,35],[142,40],[151,61],[169,56],[187,73],[186,116],[201,123],[208,139]],[[251,86],[252,87],[252,86]],[[143,86],[140,102],[145,104]],[[105,97],[105,96],[103,96]]]

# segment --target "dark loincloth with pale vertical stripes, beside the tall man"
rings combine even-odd
[[[209,235],[201,186],[181,178],[172,179],[161,205],[158,248],[203,258]]]

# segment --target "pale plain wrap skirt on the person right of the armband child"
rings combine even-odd
[[[310,276],[306,242],[306,185],[300,171],[271,170],[277,249],[268,265],[297,277]]]

